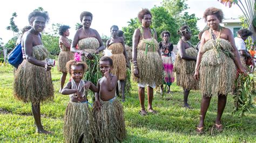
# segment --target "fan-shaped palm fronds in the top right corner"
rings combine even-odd
[[[255,0],[218,0],[220,3],[228,5],[230,8],[233,4],[237,4],[246,18],[246,23],[251,31],[255,32],[256,18],[255,18]],[[252,35],[253,41],[256,40],[256,35]]]

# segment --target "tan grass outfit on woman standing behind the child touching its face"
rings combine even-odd
[[[108,47],[112,55],[110,58],[113,60],[113,75],[116,75],[118,80],[125,80],[126,78],[126,59],[124,56],[124,47],[122,43],[116,42]]]

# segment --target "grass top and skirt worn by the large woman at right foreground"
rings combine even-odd
[[[203,46],[199,78],[200,89],[203,95],[211,97],[219,94],[227,95],[233,91],[236,78],[236,67],[232,56],[224,52],[233,48],[230,42],[225,39],[218,39],[221,51],[216,51],[212,40],[208,40]]]

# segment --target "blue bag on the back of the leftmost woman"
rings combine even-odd
[[[22,46],[21,44],[18,44],[8,55],[8,62],[15,68],[18,68],[22,61]]]

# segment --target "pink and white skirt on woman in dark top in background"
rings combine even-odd
[[[173,76],[173,63],[172,63],[172,57],[171,56],[161,56],[163,60],[164,65],[164,71],[165,71],[165,83],[167,85],[171,85],[174,82],[174,76]]]

